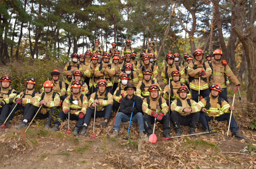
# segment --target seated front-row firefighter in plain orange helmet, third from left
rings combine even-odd
[[[27,113],[23,116],[21,122],[25,122],[24,127],[27,127],[27,123],[31,120],[34,114],[38,111],[41,105],[42,108],[39,110],[37,116],[45,119],[48,118],[45,122],[45,130],[48,130],[52,121],[56,115],[56,107],[60,104],[59,93],[53,91],[54,84],[53,82],[47,80],[43,83],[45,91],[43,93],[35,96],[31,102],[32,106],[28,109]]]

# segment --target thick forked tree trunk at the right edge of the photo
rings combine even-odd
[[[235,25],[232,29],[242,42],[247,59],[249,81],[247,101],[256,103],[256,27],[249,26],[243,31],[238,25]]]

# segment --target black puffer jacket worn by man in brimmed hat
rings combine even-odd
[[[131,99],[128,98],[128,95],[123,97],[120,102],[119,112],[122,112],[122,113],[130,116],[132,112],[128,112],[127,110],[133,107],[134,101],[135,101],[134,108],[136,110],[133,112],[133,116],[136,115],[138,112],[142,113],[142,99],[136,95],[133,95],[133,97]]]

